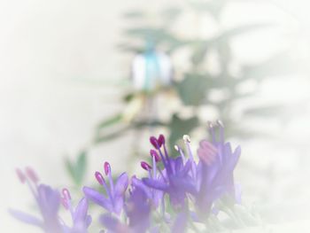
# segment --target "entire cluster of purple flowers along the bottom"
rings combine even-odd
[[[123,173],[113,180],[110,164],[105,162],[104,173],[95,173],[97,183],[105,191],[84,187],[84,198],[75,208],[68,190],[59,193],[38,184],[31,169],[25,173],[18,170],[20,181],[27,183],[35,196],[42,220],[18,211],[11,210],[11,213],[20,221],[56,233],[89,232],[88,202],[105,209],[99,222],[107,232],[184,232],[197,222],[206,224],[210,215],[219,212],[215,205],[218,200],[229,200],[225,202],[228,206],[240,202],[233,176],[240,147],[232,150],[231,145],[225,143],[220,120],[210,123],[209,129],[212,139],[200,142],[196,158],[189,136],[183,136],[186,152],[175,146],[176,157],[169,156],[164,136],[151,136],[151,164],[141,162],[147,172],[142,179],[136,175],[129,178]],[[58,215],[61,203],[72,216],[70,226]]]

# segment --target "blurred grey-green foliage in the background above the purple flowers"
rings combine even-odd
[[[237,103],[253,97],[259,90],[260,82],[265,78],[286,74],[290,71],[289,65],[291,64],[290,56],[283,51],[266,61],[260,62],[260,64],[236,65],[231,42],[239,35],[247,35],[266,27],[275,27],[275,25],[266,23],[249,24],[245,22],[244,25],[235,28],[222,27],[221,18],[225,8],[235,2],[234,0],[182,1],[183,4],[174,3],[175,6],[169,6],[156,15],[152,15],[152,19],[155,20],[148,20],[150,15],[143,11],[127,12],[124,15],[125,20],[131,22],[131,27],[123,31],[122,38],[124,42],[119,44],[118,48],[120,50],[132,54],[143,53],[148,49],[147,46],[151,41],[155,50],[164,51],[171,58],[174,58],[174,55],[180,50],[189,51],[187,53],[189,68],[182,73],[175,73],[175,79],[170,89],[176,93],[176,97],[183,107],[190,107],[193,111],[190,116],[183,118],[181,114],[182,108],[180,108],[175,110],[168,120],[162,120],[156,116],[151,118],[141,117],[143,111],[147,111],[145,108],[140,109],[141,114],[137,114],[132,120],[127,121],[124,120],[126,113],[117,113],[102,120],[97,125],[95,144],[113,140],[122,136],[128,130],[166,128],[168,131],[167,140],[170,148],[172,148],[182,138],[183,134],[190,134],[193,130],[199,127],[202,128],[202,126],[205,128],[206,120],[213,120],[199,118],[198,110],[206,106],[211,106],[216,110],[217,117],[225,123],[228,136],[255,136],[255,132],[252,132],[251,128],[244,128],[244,124],[239,122],[244,121],[245,118],[270,117],[281,112],[282,106],[251,105],[251,107],[239,111],[237,119],[234,117]],[[201,36],[185,37],[176,33],[174,30],[175,25],[183,15],[189,12],[194,14],[198,20],[205,16],[213,19],[218,33],[208,38]],[[198,25],[193,25],[193,27],[198,27]],[[210,53],[217,55],[220,69],[216,74],[210,70],[210,66],[205,66],[206,58]],[[233,65],[237,66],[237,72],[231,68]],[[279,69],[279,66],[283,68]],[[174,66],[175,71],[178,71],[178,69],[178,66]],[[240,86],[245,82],[253,82],[257,88],[246,93],[240,92]],[[136,97],[143,96],[146,99],[153,99],[166,90],[167,88],[162,88],[152,93],[132,91],[126,93],[123,100],[129,105]],[[222,95],[219,99],[214,99],[212,96],[213,91],[220,91],[225,95]],[[79,167],[79,158],[75,165],[67,162],[68,171],[76,183],[79,183],[81,178],[79,172],[75,171],[75,169],[81,168]]]

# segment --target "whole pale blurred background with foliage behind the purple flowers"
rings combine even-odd
[[[244,205],[267,229],[308,232],[309,7],[0,1],[1,229],[25,231],[7,209],[32,208],[15,167],[80,198],[105,160],[139,173],[152,134],[171,148],[189,134],[197,148],[207,121],[221,119],[242,146]]]

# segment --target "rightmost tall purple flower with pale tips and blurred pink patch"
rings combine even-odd
[[[231,145],[224,142],[224,127],[218,120],[219,140],[215,137],[214,126],[210,123],[212,143],[203,140],[198,148],[198,181],[199,191],[196,196],[197,206],[201,213],[209,214],[213,202],[223,196],[229,196],[237,202],[234,184],[234,169],[240,157],[240,146],[232,151]],[[200,214],[201,214],[200,213]]]

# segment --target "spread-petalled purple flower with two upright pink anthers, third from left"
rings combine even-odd
[[[97,182],[104,187],[106,196],[89,187],[84,187],[83,192],[86,198],[99,206],[103,206],[108,212],[120,215],[124,206],[125,191],[128,187],[128,175],[126,173],[121,174],[114,185],[110,164],[105,162],[104,167],[105,175],[107,175],[109,179],[109,187],[105,183],[105,178],[100,172],[96,172],[95,177]]]

